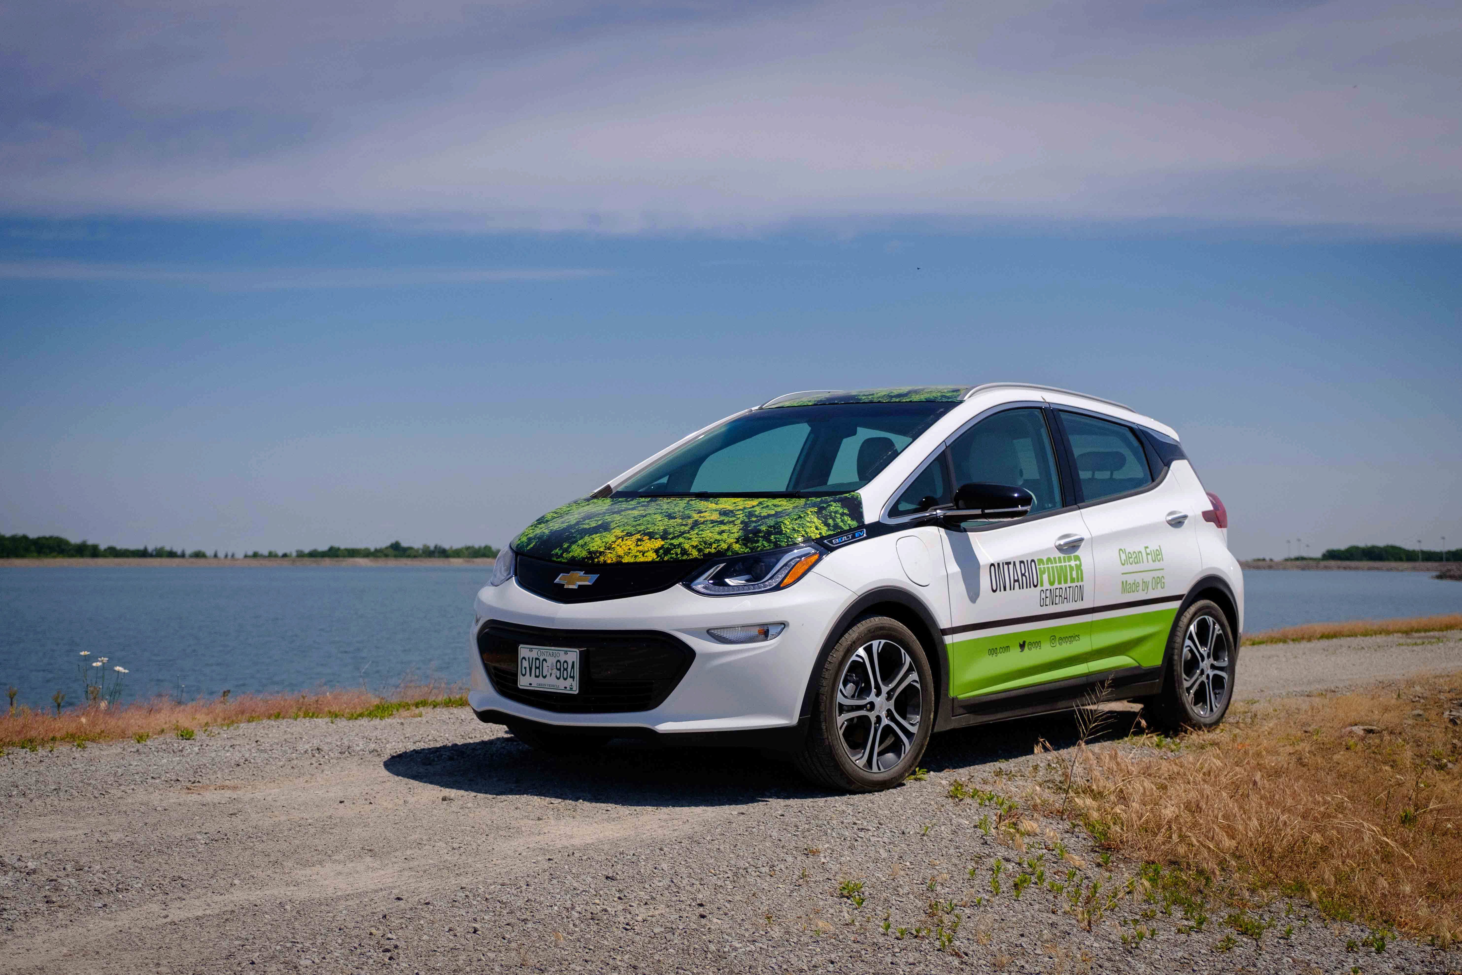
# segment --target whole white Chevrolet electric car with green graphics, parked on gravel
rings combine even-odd
[[[478,718],[901,782],[930,734],[1092,700],[1218,724],[1244,583],[1177,434],[1045,386],[781,396],[548,512],[477,595]]]

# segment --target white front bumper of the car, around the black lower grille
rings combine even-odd
[[[528,592],[516,580],[488,586],[477,595],[477,621],[468,634],[468,703],[487,721],[624,734],[700,737],[794,728],[827,629],[851,601],[851,591],[816,570],[785,592],[730,598],[702,596],[677,585],[624,599],[560,604]],[[656,630],[689,646],[694,659],[674,690],[649,710],[547,710],[510,700],[493,687],[477,645],[478,630],[491,620],[551,630]],[[712,627],[757,623],[785,623],[787,629],[775,640],[741,646],[706,634]]]

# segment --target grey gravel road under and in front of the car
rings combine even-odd
[[[1241,661],[1240,697],[1263,697],[1462,669],[1462,637]],[[1072,735],[1069,718],[940,735],[927,779],[855,797],[749,751],[544,759],[462,709],[12,750],[0,957],[16,974],[1462,971],[1420,944],[1349,953],[1368,931],[1284,900],[1269,912],[1292,936],[1257,944],[1218,918],[1183,934],[1130,898],[1086,930],[1070,886],[1120,890],[1130,864],[1104,867],[1058,822],[1029,822],[1019,852],[981,827],[990,805],[947,795],[956,778],[1015,794],[1041,773],[1037,738]],[[1016,896],[1022,860],[1067,893]],[[1135,925],[1155,933],[1129,947]]]

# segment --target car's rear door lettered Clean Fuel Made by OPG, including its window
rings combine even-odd
[[[1083,411],[1056,414],[1092,539],[1086,665],[1092,674],[1158,667],[1177,608],[1202,570],[1202,512],[1175,478],[1154,471],[1155,455],[1136,428]]]

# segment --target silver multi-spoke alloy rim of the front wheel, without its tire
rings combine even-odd
[[[887,772],[914,747],[923,710],[918,668],[893,640],[864,643],[838,677],[838,738],[866,772]]]

